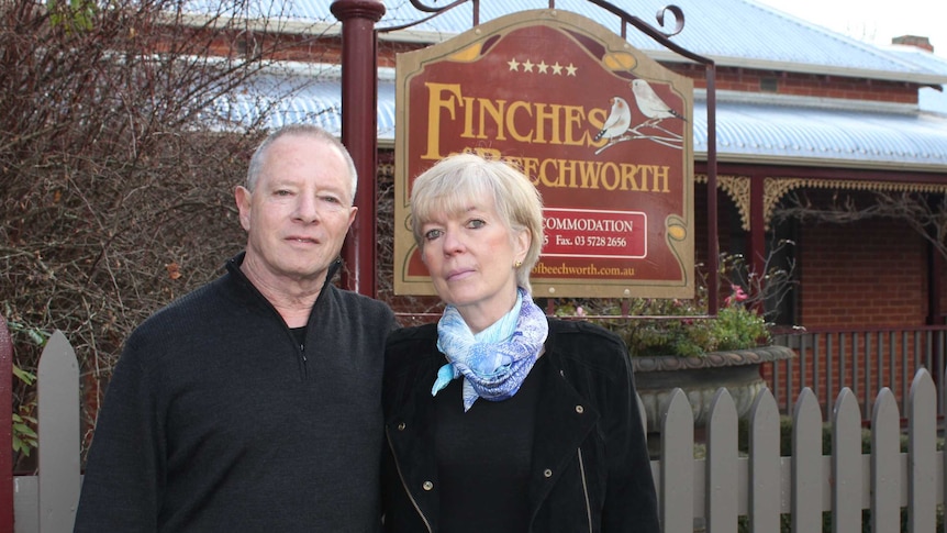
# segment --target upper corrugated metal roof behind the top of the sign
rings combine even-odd
[[[330,11],[331,3],[331,0],[270,0],[265,7],[257,8],[257,15],[278,13],[280,19],[328,23],[337,30],[337,21]],[[426,3],[437,5],[433,0],[426,0]],[[657,25],[655,14],[669,2],[624,0],[614,3],[644,22]],[[720,65],[947,82],[947,65],[899,56],[753,0],[676,0],[673,3],[682,9],[686,20],[683,32],[676,35],[673,42],[693,53],[712,57]],[[408,0],[386,1],[385,5],[386,14],[378,27],[414,22],[427,15],[414,9]],[[480,22],[516,11],[546,8],[548,0],[482,0]],[[621,31],[617,16],[588,0],[557,0],[556,8],[587,16],[613,32]],[[410,29],[411,38],[437,41],[469,30],[471,10],[471,3],[467,2],[413,26]],[[672,15],[668,14],[667,19],[666,27],[673,27]],[[627,41],[646,52],[670,54],[668,57],[661,55],[661,58],[677,57],[633,27],[627,32]]]

